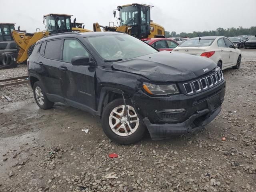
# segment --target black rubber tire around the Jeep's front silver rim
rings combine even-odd
[[[134,131],[134,133],[128,136],[120,136],[114,133],[109,125],[109,117],[112,110],[120,105],[124,105],[124,100],[122,98],[113,100],[112,102],[108,103],[103,110],[102,113],[102,128],[106,136],[110,138],[110,140],[119,143],[119,144],[132,144],[140,141],[144,136],[146,127],[144,126],[142,119],[139,121],[138,128]],[[132,106],[132,103],[126,100],[126,106]]]

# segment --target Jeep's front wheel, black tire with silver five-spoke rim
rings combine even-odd
[[[122,98],[108,103],[102,113],[102,128],[106,136],[119,144],[132,144],[141,140],[146,130],[132,103]],[[130,123],[128,121],[130,120]]]

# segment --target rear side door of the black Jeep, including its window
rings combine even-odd
[[[43,42],[36,61],[36,71],[42,77],[46,95],[52,100],[64,102],[61,89],[59,63],[62,52],[62,39]]]

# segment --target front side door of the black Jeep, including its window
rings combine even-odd
[[[77,108],[93,112],[95,106],[95,68],[90,66],[73,66],[71,60],[75,56],[90,56],[84,45],[75,38],[64,40],[62,70],[62,92],[66,103]]]

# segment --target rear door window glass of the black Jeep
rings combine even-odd
[[[53,40],[46,43],[44,56],[50,59],[60,59],[62,40]]]

